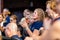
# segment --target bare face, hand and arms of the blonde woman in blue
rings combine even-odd
[[[36,12],[36,10],[34,11],[34,13],[33,13],[33,17],[34,18],[38,18],[38,13]],[[23,24],[24,23],[24,24]],[[22,22],[20,22],[20,25],[23,27],[23,28],[28,28],[29,26],[28,26],[28,24],[26,23],[26,20],[23,20]],[[34,32],[32,32],[29,28],[28,28],[28,30],[26,30],[27,31],[27,33],[29,34],[29,36],[30,37],[32,37],[32,36],[38,36],[39,35],[39,30],[37,30],[37,29],[35,29],[34,30]]]

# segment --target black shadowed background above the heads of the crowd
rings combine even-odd
[[[47,0],[1,0],[2,8],[8,8],[11,12],[23,11],[28,8],[34,10],[35,8],[42,8],[45,10]]]

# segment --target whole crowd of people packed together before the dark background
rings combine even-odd
[[[48,0],[46,11],[25,9],[18,23],[17,16],[9,14],[8,9],[0,14],[0,40],[60,40],[60,0]]]

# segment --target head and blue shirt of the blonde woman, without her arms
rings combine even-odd
[[[40,27],[43,27],[44,16],[45,16],[44,11],[42,9],[40,9],[40,8],[35,9],[35,11],[33,13],[33,19],[35,22],[32,24],[32,26],[34,25],[35,28],[37,27],[36,28],[37,30],[39,30]],[[33,31],[34,29],[31,29],[31,30]]]

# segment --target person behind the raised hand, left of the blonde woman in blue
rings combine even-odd
[[[19,22],[19,25],[20,23],[22,23],[23,20],[26,20],[26,23],[28,24],[28,26],[30,25],[30,16],[31,16],[32,12],[28,9],[25,9],[24,12],[23,12],[23,15],[24,17],[21,19],[21,21]],[[26,29],[23,28],[23,39],[26,37],[26,36],[29,36]]]

